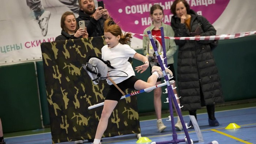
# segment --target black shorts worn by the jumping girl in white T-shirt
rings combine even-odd
[[[126,90],[127,88],[131,88],[135,90],[134,84],[138,81],[139,79],[136,78],[135,76],[131,76],[128,79],[124,80],[121,83],[116,84],[122,91]],[[123,96],[123,94],[114,86],[114,84],[109,86],[109,91],[108,94],[105,98],[105,100],[113,100],[113,101],[119,101],[120,98]]]

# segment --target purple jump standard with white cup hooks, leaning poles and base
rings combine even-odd
[[[163,56],[164,56],[164,63],[165,63],[165,66],[167,66],[167,60],[166,60],[166,50],[165,50],[165,40],[164,40],[164,33],[163,33],[163,27],[160,28],[161,29],[161,38],[162,38],[162,47],[163,47]],[[178,106],[178,103],[177,103],[177,100],[175,98],[175,95],[173,93],[173,90],[172,90],[172,86],[170,84],[170,81],[169,81],[169,78],[167,76],[167,73],[165,71],[165,67],[163,66],[163,62],[162,62],[162,59],[158,53],[158,50],[157,50],[157,46],[155,45],[155,42],[154,42],[154,39],[152,37],[152,34],[150,31],[147,31],[147,34],[148,34],[148,37],[150,39],[150,42],[154,48],[154,51],[155,51],[155,54],[157,56],[157,59],[158,59],[158,62],[159,62],[159,65],[163,71],[163,75],[165,77],[165,80],[166,80],[166,83],[167,83],[167,90],[168,90],[168,99],[169,99],[169,109],[170,109],[170,117],[171,117],[171,123],[172,123],[172,136],[173,136],[173,140],[170,140],[170,141],[161,141],[161,142],[152,142],[151,144],[178,144],[178,143],[181,143],[181,142],[188,142],[189,144],[192,144],[193,141],[190,139],[189,137],[189,134],[188,134],[188,130],[187,130],[187,127],[185,125],[185,122],[184,122],[184,119],[181,115],[181,111],[180,111],[180,107]],[[184,133],[185,133],[185,136],[186,138],[185,139],[178,139],[177,137],[177,133],[176,133],[176,130],[175,130],[175,126],[174,126],[174,117],[173,117],[173,107],[172,107],[172,99],[173,99],[173,102],[174,102],[174,106],[176,107],[176,110],[177,110],[177,113],[178,113],[178,117],[180,118],[180,121],[181,121],[181,124],[182,124],[182,127],[183,127],[183,130],[184,130]],[[191,142],[192,141],[192,142]]]

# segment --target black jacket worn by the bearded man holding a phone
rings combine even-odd
[[[76,18],[76,23],[78,24],[79,21],[84,20],[85,26],[87,27],[88,37],[99,37],[104,35],[104,22],[103,18],[95,20],[90,15],[84,13],[83,10],[79,11],[79,16]],[[79,27],[79,25],[78,25]]]

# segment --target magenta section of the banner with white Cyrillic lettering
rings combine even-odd
[[[119,22],[122,30],[142,34],[146,27],[150,26],[152,20],[150,18],[150,8],[154,4],[163,7],[163,22],[170,24],[173,14],[170,12],[171,5],[174,0],[104,0],[106,9],[110,15]],[[187,0],[190,8],[203,15],[210,23],[214,23],[222,12],[226,9],[230,0]],[[114,5],[113,5],[114,4]],[[138,37],[138,36],[136,36]],[[142,37],[138,37],[142,38]]]

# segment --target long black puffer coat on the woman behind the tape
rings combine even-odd
[[[191,32],[199,27],[200,36],[216,35],[216,30],[201,15],[193,10]],[[171,26],[175,37],[190,37],[190,31],[180,18],[172,16]],[[209,43],[212,41],[175,40],[178,45],[178,89],[182,110],[201,109],[202,106],[224,102],[218,69]]]

